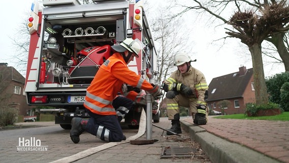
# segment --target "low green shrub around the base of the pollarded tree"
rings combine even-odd
[[[255,103],[246,103],[246,112],[245,114],[250,113],[250,115],[252,116],[256,116],[257,112],[260,110],[270,110],[270,109],[274,109],[274,108],[278,108],[281,110],[281,112],[283,112],[282,108],[280,107],[279,104],[273,103],[273,102],[269,102],[267,104],[261,104],[261,105],[256,105]]]

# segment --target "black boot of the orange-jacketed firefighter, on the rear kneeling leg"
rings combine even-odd
[[[82,119],[79,117],[74,117],[71,120],[71,130],[70,130],[70,139],[73,143],[77,144],[80,139],[79,135],[85,131],[85,126],[88,123],[88,119]]]

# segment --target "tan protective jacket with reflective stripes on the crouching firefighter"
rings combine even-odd
[[[206,78],[202,72],[190,66],[188,72],[182,74],[179,70],[173,72],[168,79],[165,80],[166,85],[172,83],[182,83],[193,90],[194,95],[188,98],[197,98],[197,104],[207,105],[205,102],[205,92],[208,90]]]

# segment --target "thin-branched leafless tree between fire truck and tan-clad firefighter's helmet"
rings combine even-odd
[[[192,51],[192,42],[189,42],[189,35],[186,29],[181,26],[183,20],[181,18],[171,19],[169,6],[159,8],[159,12],[155,11],[151,14],[152,34],[157,46],[157,62],[159,65],[158,82],[169,77],[172,71],[176,70],[174,65],[174,56],[177,52]]]

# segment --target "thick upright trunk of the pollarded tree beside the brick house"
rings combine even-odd
[[[265,75],[262,60],[261,44],[254,43],[249,47],[253,63],[253,77],[254,77],[254,89],[256,104],[267,104],[268,93],[265,84]]]

